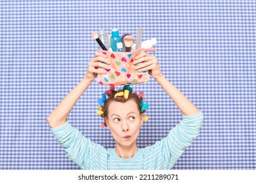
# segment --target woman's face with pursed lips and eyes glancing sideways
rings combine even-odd
[[[106,122],[116,143],[130,146],[136,144],[143,118],[133,99],[125,103],[112,101],[108,107]]]

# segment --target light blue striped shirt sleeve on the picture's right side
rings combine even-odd
[[[161,141],[163,144],[163,161],[167,169],[173,167],[185,148],[190,146],[198,136],[202,122],[203,114],[201,111],[191,116],[182,115],[181,122],[173,127],[167,137]]]

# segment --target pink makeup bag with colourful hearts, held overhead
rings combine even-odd
[[[142,51],[154,52],[154,49],[140,49],[134,52],[110,52],[105,50],[99,50],[107,57],[108,61],[111,61],[110,70],[107,70],[106,75],[98,75],[96,82],[104,85],[131,85],[147,82],[149,80],[148,71],[138,73],[135,70],[133,61],[135,57]],[[102,69],[102,68],[100,68]]]

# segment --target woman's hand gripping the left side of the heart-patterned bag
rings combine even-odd
[[[100,69],[100,68],[103,68],[103,69]],[[88,64],[85,78],[93,81],[98,74],[104,75],[108,73],[105,69],[106,70],[110,69],[110,61],[106,60],[106,55],[100,52],[96,52],[95,58],[91,59],[90,63]]]

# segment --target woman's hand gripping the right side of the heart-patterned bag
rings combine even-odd
[[[136,65],[135,70],[137,70],[137,72],[148,71],[148,74],[154,79],[163,76],[158,59],[150,54],[147,54],[146,52],[141,52],[138,56],[136,56],[133,64]]]

